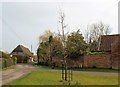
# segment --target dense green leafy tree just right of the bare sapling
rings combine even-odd
[[[78,58],[80,55],[86,53],[87,44],[80,31],[72,32],[67,38],[66,51],[69,58]]]

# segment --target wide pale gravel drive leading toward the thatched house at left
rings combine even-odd
[[[30,64],[17,64],[15,67],[4,70],[2,73],[2,84],[7,84],[15,79],[21,78],[31,71],[35,70],[35,67]]]

